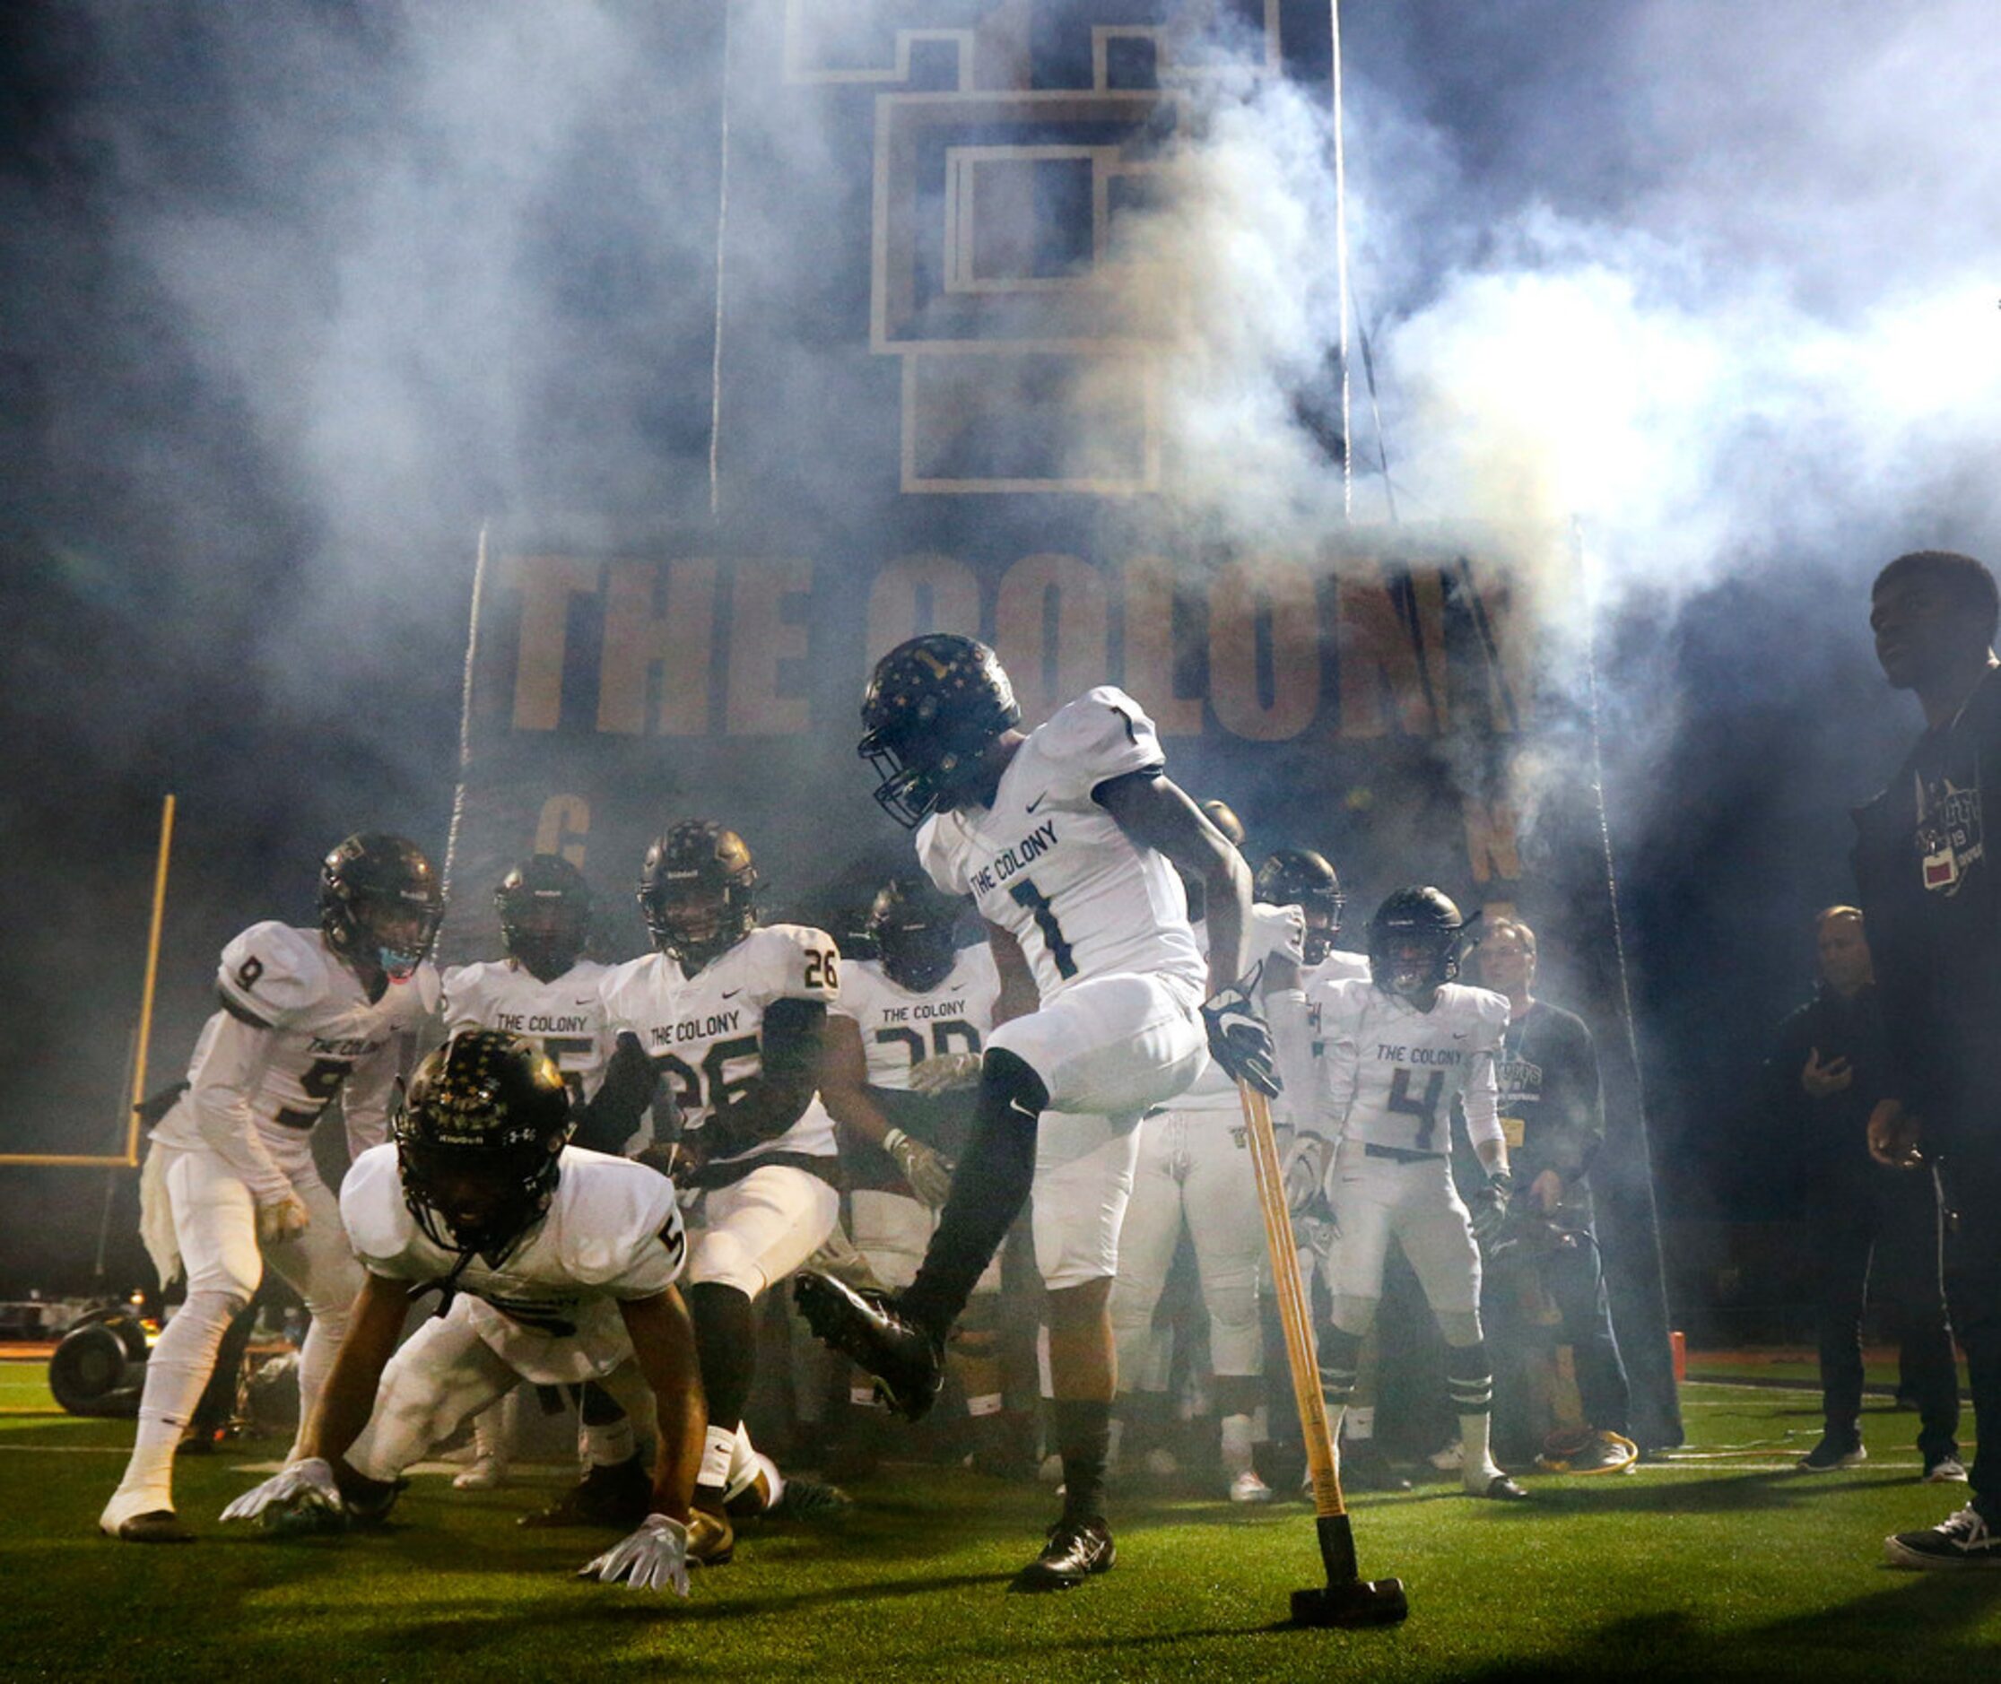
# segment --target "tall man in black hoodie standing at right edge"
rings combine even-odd
[[[2001,882],[1987,860],[2001,778],[2001,592],[1971,556],[1915,550],[1877,574],[1869,624],[1925,734],[1855,814],[1855,880],[1883,996],[1885,1080],[1869,1152],[1931,1164],[1945,1202],[1945,1288],[1973,1394],[1973,1500],[1885,1540],[1895,1566],[2001,1566]]]

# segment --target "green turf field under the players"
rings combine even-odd
[[[520,1532],[546,1496],[420,1474],[382,1536],[278,1542],[214,1514],[250,1456],[184,1460],[190,1548],[116,1546],[94,1518],[122,1422],[46,1412],[0,1362],[0,1678],[1993,1678],[2001,1572],[1901,1574],[1881,1536],[1963,1486],[1917,1484],[1917,1418],[1873,1410],[1873,1460],[1809,1476],[1809,1392],[1691,1384],[1687,1452],[1635,1474],[1529,1478],[1535,1502],[1449,1486],[1359,1498],[1365,1572],[1401,1574],[1407,1626],[1279,1630],[1313,1576],[1287,1504],[1115,1496],[1121,1564],[1067,1596],[1005,1596],[1047,1490],[896,1470],[838,1524],[744,1528],[690,1602],[570,1578],[594,1534]]]

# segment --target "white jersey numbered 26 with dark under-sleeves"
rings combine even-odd
[[[762,1074],[758,1036],[772,1000],[832,1006],[838,996],[834,938],[804,924],[766,924],[694,976],[684,976],[666,954],[616,966],[604,980],[604,1030],[614,1038],[620,1030],[640,1038],[674,1084],[682,1130],[692,1132],[708,1122],[718,1096],[728,1100]],[[770,1152],[834,1156],[834,1120],[818,1094],[776,1140],[710,1164],[748,1162]]]

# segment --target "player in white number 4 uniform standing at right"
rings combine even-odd
[[[1481,1334],[1475,1228],[1495,1232],[1513,1186],[1495,1086],[1509,1004],[1455,978],[1467,948],[1459,908],[1437,888],[1401,888],[1369,920],[1369,980],[1321,980],[1319,1130],[1301,1128],[1287,1182],[1317,1184],[1333,1212],[1333,1320],[1321,1336],[1331,1430],[1355,1392],[1363,1338],[1383,1298],[1391,1240],[1411,1260],[1447,1344],[1447,1390],[1459,1416],[1469,1494],[1523,1498],[1489,1450],[1493,1368]],[[1451,1108],[1487,1170],[1481,1216],[1453,1186]],[[1295,1106],[1295,1112],[1303,1108]]]

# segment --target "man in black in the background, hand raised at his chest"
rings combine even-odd
[[[1959,1464],[1959,1370],[1939,1282],[1939,1192],[1929,1174],[1869,1158],[1869,1112],[1885,1094],[1883,1010],[1863,914],[1829,906],[1815,924],[1821,986],[1779,1026],[1767,1066],[1803,1168],[1821,1340],[1827,1432],[1801,1458],[1809,1474],[1855,1468],[1863,1448],[1863,1302],[1887,1306],[1901,1374],[1919,1408],[1925,1480],[1967,1478]]]

